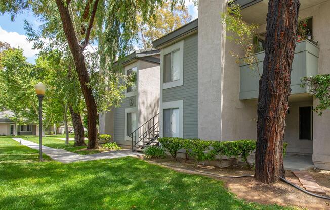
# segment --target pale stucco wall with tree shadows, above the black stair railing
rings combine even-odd
[[[160,66],[139,61],[138,114],[139,125],[159,113]]]

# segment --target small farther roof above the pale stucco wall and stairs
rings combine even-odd
[[[134,59],[139,59],[139,60],[144,60],[144,61],[160,64],[159,58],[152,57],[152,56],[155,56],[158,54],[160,54],[159,49],[155,49],[155,48],[138,49],[138,50],[133,51],[131,54],[129,54],[126,57],[126,60],[123,61],[121,64],[126,65]]]

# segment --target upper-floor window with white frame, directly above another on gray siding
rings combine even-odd
[[[183,45],[182,40],[161,50],[162,89],[183,85]]]

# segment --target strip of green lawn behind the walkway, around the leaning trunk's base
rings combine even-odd
[[[69,137],[73,138],[74,136],[70,135]],[[39,137],[25,136],[22,138],[28,141],[32,141],[34,143],[39,143]],[[43,137],[43,145],[56,149],[65,149],[67,151],[71,151],[81,155],[100,153],[100,151],[98,150],[80,150],[85,149],[86,146],[73,146],[74,141],[69,141],[69,144],[66,145],[65,141],[57,138],[65,138],[65,135],[51,135]],[[88,140],[85,140],[85,143],[87,144]]]

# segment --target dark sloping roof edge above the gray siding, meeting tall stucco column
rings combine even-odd
[[[198,18],[152,42],[154,48],[167,44],[198,29]]]

